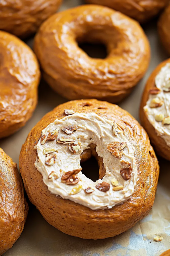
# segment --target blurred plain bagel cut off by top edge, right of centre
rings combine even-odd
[[[156,16],[169,0],[86,0],[86,2],[108,6],[144,23]]]

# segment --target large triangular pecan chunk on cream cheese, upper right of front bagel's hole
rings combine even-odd
[[[126,145],[126,142],[111,142],[107,145],[107,149],[116,158],[121,158],[123,155],[123,149],[126,147]]]

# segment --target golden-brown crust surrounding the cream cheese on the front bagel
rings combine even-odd
[[[56,197],[43,183],[41,173],[34,166],[37,155],[34,146],[41,137],[41,131],[49,123],[66,116],[64,109],[79,113],[95,112],[103,118],[115,121],[136,147],[138,179],[135,193],[128,201],[112,209],[91,210]],[[148,135],[128,112],[117,105],[92,99],[70,101],[47,113],[32,129],[22,146],[20,171],[29,199],[51,225],[72,236],[101,239],[128,230],[148,214],[155,198],[159,165]]]

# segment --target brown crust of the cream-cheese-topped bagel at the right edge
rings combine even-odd
[[[141,105],[140,105],[141,124],[147,131],[156,153],[167,160],[170,160],[170,147],[166,144],[163,138],[157,135],[154,127],[148,121],[147,116],[143,111],[143,107],[146,105],[146,102],[149,98],[149,90],[155,87],[155,76],[159,73],[161,68],[165,66],[166,63],[169,63],[169,62],[170,62],[170,59],[167,59],[161,62],[152,72],[151,76],[149,77],[146,83],[145,89],[143,91],[143,96],[142,96]]]

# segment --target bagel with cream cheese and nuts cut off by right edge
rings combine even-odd
[[[170,161],[169,72],[170,59],[160,63],[152,72],[143,92],[140,120],[155,151],[158,155]]]

